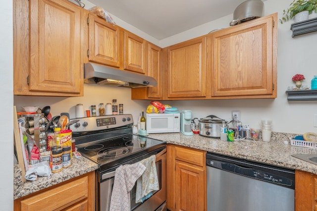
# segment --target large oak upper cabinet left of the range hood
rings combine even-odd
[[[81,12],[65,0],[13,1],[14,95],[83,95]]]

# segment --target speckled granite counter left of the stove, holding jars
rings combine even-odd
[[[20,197],[29,195],[36,191],[51,187],[58,183],[80,176],[82,174],[94,171],[98,169],[98,164],[90,161],[87,158],[72,158],[72,165],[68,168],[64,168],[60,172],[52,173],[51,176],[38,177],[35,181],[26,181],[22,183],[21,180],[21,168],[19,165],[14,165],[14,188],[13,198],[18,199]]]

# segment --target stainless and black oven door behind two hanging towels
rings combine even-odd
[[[148,156],[150,157],[150,155]],[[146,157],[142,156],[140,160]],[[139,160],[139,161],[140,161]],[[137,161],[136,161],[137,162]],[[159,190],[153,193],[149,199],[143,203],[135,203],[136,184],[130,191],[131,210],[134,211],[156,211],[161,209],[166,202],[166,148],[156,155],[156,167],[159,179]],[[99,183],[99,211],[109,211],[111,192],[113,188],[115,171],[101,174],[101,182]],[[163,206],[164,207],[164,206]]]

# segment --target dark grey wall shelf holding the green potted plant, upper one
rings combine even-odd
[[[304,20],[291,24],[292,37],[304,35],[317,31],[317,18]]]

